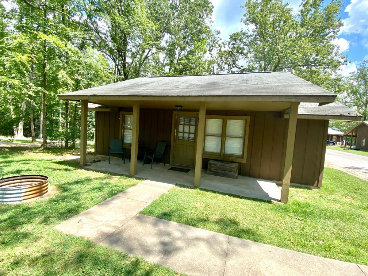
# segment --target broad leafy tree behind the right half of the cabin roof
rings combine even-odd
[[[332,43],[342,26],[339,0],[303,0],[297,13],[282,0],[243,7],[245,28],[220,52],[226,71],[289,71],[318,85],[332,82],[345,60]]]

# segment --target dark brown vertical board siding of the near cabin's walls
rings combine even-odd
[[[287,119],[280,118],[279,112],[207,110],[206,114],[250,116],[247,161],[239,163],[239,174],[281,180]],[[145,152],[155,149],[158,141],[167,141],[165,163],[170,163],[172,118],[173,110],[168,109],[141,109],[139,114],[139,143]],[[109,139],[119,138],[119,129],[119,112],[96,112],[97,154],[108,154]],[[292,183],[321,187],[327,131],[328,120],[298,119]],[[209,160],[202,159],[203,169]]]

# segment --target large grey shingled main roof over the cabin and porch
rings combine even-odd
[[[135,78],[59,96],[61,99],[82,99],[84,96],[279,96],[280,101],[298,96],[306,100],[322,97],[327,102],[333,102],[336,97],[289,72]]]

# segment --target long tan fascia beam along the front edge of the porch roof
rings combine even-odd
[[[243,95],[243,96],[117,96],[117,95],[58,95],[61,100],[145,100],[145,101],[195,101],[195,102],[216,102],[216,101],[267,101],[267,102],[311,102],[311,103],[332,103],[336,95]]]

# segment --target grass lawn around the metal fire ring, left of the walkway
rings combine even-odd
[[[0,205],[0,275],[175,275],[170,269],[53,228],[139,182],[57,160],[67,153],[77,151],[0,147],[0,178],[44,174],[52,188],[44,199]]]

